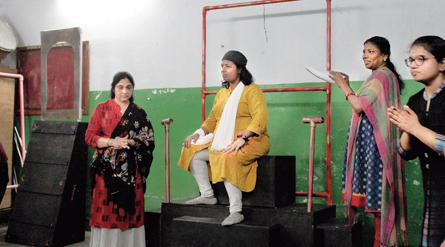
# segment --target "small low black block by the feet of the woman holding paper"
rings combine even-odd
[[[363,246],[361,221],[346,226],[346,219],[329,219],[317,226],[324,231],[325,247],[361,247]]]

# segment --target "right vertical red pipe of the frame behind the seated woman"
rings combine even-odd
[[[331,0],[326,0],[326,70],[331,71]],[[331,89],[326,82],[326,198],[327,205],[332,205],[331,183]]]

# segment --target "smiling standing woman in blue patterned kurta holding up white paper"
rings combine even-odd
[[[357,207],[374,214],[374,247],[398,245],[396,228],[406,236],[404,164],[397,155],[399,132],[389,123],[388,107],[400,107],[404,84],[390,61],[390,43],[372,37],[363,43],[362,59],[372,74],[355,93],[348,75],[331,71],[353,108],[343,165],[342,201],[350,224]]]

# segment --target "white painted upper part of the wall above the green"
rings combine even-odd
[[[90,44],[89,90],[108,89],[127,70],[136,89],[201,85],[202,7],[241,0],[0,0],[0,16],[19,46],[40,45],[40,31],[80,26]],[[125,3],[124,3],[125,2]],[[220,61],[242,51],[259,84],[314,82],[304,68],[325,69],[326,1],[212,10],[207,14],[207,85],[220,85]],[[361,61],[363,41],[379,35],[392,44],[404,79],[410,42],[445,38],[444,0],[332,0],[332,70],[352,81],[370,73]],[[267,39],[266,39],[267,34]],[[15,67],[15,54],[2,61]]]

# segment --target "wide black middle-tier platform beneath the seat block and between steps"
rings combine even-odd
[[[161,246],[172,246],[172,223],[181,216],[208,217],[223,220],[229,210],[223,205],[185,205],[184,200],[162,204]],[[316,226],[335,217],[335,206],[313,205],[308,213],[306,204],[295,204],[278,208],[243,206],[245,223],[257,222],[265,225],[281,225],[276,246],[322,247],[323,231]],[[221,226],[223,229],[223,226]]]

